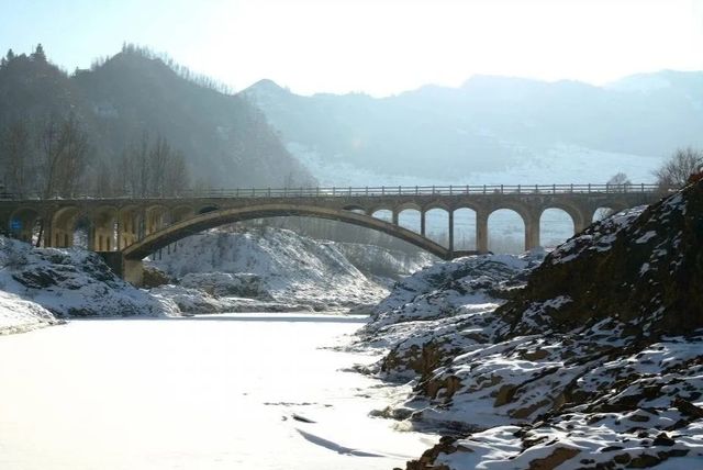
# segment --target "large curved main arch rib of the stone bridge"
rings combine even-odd
[[[423,237],[420,234],[369,215],[358,214],[341,209],[320,208],[314,205],[265,203],[242,208],[221,209],[177,222],[125,247],[123,256],[126,260],[141,260],[174,242],[209,228],[253,219],[290,215],[346,222],[348,224],[386,233],[390,236],[415,245],[443,259],[448,259],[451,255],[447,248]]]

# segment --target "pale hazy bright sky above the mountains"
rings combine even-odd
[[[473,74],[703,69],[703,0],[0,0],[0,47],[68,70],[123,42],[241,90],[397,93]]]

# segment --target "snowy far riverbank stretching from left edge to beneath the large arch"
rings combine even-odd
[[[86,316],[344,312],[388,293],[386,281],[377,282],[373,272],[402,277],[427,262],[423,256],[270,227],[210,231],[154,258],[147,266],[166,271],[157,282],[166,283],[135,289],[90,251],[34,248],[0,237],[0,334]]]

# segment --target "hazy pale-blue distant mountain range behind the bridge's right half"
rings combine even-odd
[[[425,86],[380,99],[303,97],[263,80],[242,94],[289,148],[314,155],[321,166],[345,164],[370,174],[456,180],[500,175],[545,155],[550,159],[539,163],[547,172],[553,164],[568,170],[571,158],[581,168],[590,159],[615,164],[624,154],[625,167],[638,165],[637,157],[657,157],[637,169],[646,176],[677,147],[703,146],[698,71],[639,75],[605,87],[476,76],[460,88]],[[565,178],[588,178],[576,168]]]

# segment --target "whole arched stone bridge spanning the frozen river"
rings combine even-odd
[[[383,232],[433,255],[451,259],[488,251],[488,219],[501,209],[515,211],[525,226],[525,249],[539,246],[539,220],[547,209],[563,210],[574,233],[600,208],[614,211],[658,199],[652,184],[467,186],[216,190],[169,198],[0,199],[2,231],[41,245],[68,247],[80,227],[88,249],[100,253],[126,280],[140,283],[142,259],[183,237],[208,228],[261,217],[310,216]],[[427,237],[426,213],[448,214],[448,243]],[[455,211],[476,213],[476,250],[455,250]],[[420,213],[420,231],[399,224],[406,210]],[[392,216],[375,217],[378,211]]]

